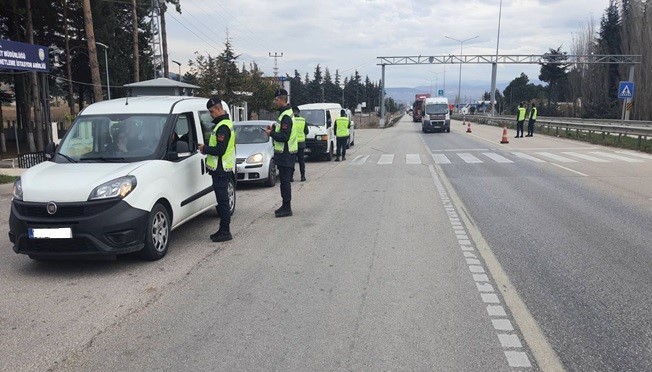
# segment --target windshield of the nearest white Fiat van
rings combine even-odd
[[[167,115],[85,115],[59,145],[57,162],[134,162],[154,158]]]

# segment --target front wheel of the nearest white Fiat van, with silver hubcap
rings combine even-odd
[[[156,203],[149,214],[145,231],[145,247],[140,251],[142,258],[160,260],[168,252],[170,244],[170,215],[161,203]]]

